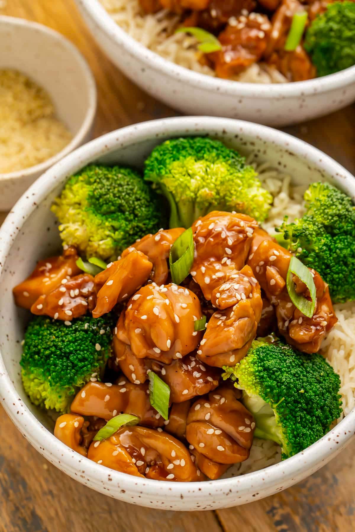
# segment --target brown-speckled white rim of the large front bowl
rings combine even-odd
[[[166,136],[169,133],[171,136],[186,135],[186,131],[190,134],[192,132],[196,134],[209,132],[211,135],[228,131],[230,134],[237,132],[239,135],[247,134],[258,137],[259,139],[261,138],[268,144],[276,144],[288,151],[292,151],[296,156],[306,159],[310,164],[317,165],[318,168],[332,174],[339,180],[344,179],[348,189],[352,190],[352,197],[355,197],[355,179],[350,172],[331,159],[331,157],[320,152],[317,148],[282,131],[242,120],[215,117],[172,117],[141,122],[112,131],[81,146],[55,164],[54,167],[47,170],[42,177],[31,185],[27,192],[15,204],[0,229],[0,277],[3,269],[6,267],[6,257],[9,254],[16,235],[21,231],[23,223],[38,208],[38,204],[47,197],[51,190],[60,182],[64,181],[71,173],[82,168],[88,162],[95,161],[99,157],[116,151],[118,148],[122,149],[125,146],[130,146],[146,139],[160,138],[160,136]],[[29,195],[31,196],[31,202],[28,202],[27,199]],[[105,486],[108,483],[109,476],[111,477],[110,480],[113,480],[113,483],[110,483],[111,493],[114,486],[118,485],[121,488],[121,492],[122,489],[128,491],[132,489],[135,491],[140,490],[141,493],[146,492],[147,495],[155,494],[156,497],[163,495],[164,497],[171,496],[174,497],[175,501],[180,500],[182,494],[192,496],[192,493],[196,491],[200,498],[199,500],[205,498],[205,501],[208,502],[210,497],[217,499],[219,494],[230,491],[233,493],[233,496],[231,493],[227,506],[236,504],[236,498],[250,496],[255,492],[256,496],[252,500],[262,498],[263,495],[260,492],[266,491],[267,489],[271,489],[275,493],[277,489],[282,489],[275,487],[280,482],[280,479],[282,479],[283,485],[287,487],[300,480],[300,475],[303,475],[302,478],[305,478],[308,476],[307,472],[309,470],[312,468],[313,471],[319,469],[321,465],[331,459],[333,454],[339,452],[345,445],[350,443],[350,438],[355,434],[354,408],[324,437],[303,452],[287,459],[285,462],[271,465],[259,471],[246,473],[240,477],[209,480],[202,483],[169,483],[168,481],[133,477],[126,475],[126,473],[100,467],[95,462],[84,459],[80,454],[72,451],[69,447],[57,440],[38,421],[27,406],[22,403],[21,397],[16,392],[15,386],[7,373],[1,352],[0,400],[15,426],[36,450],[56,465],[56,467],[82,484],[87,484],[86,480],[88,480],[90,487],[107,494],[105,491],[107,488]],[[20,410],[22,415],[18,415],[18,410]],[[84,463],[82,463],[83,460]],[[82,474],[84,464],[85,477],[83,476],[82,478],[80,475]],[[236,493],[238,497],[236,497]],[[270,494],[270,491],[268,494]],[[143,500],[140,501],[137,499],[137,501],[138,504],[140,502],[144,504]],[[218,505],[215,501],[213,503],[212,506],[207,506],[207,509],[226,507],[226,504]],[[187,504],[191,506],[191,502]],[[181,509],[186,509],[182,501]]]

